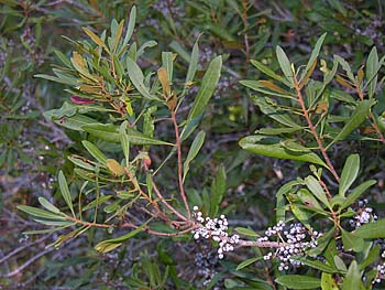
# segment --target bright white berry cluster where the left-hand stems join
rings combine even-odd
[[[224,253],[234,250],[234,246],[239,243],[240,236],[229,236],[227,232],[229,229],[229,222],[224,215],[221,215],[219,218],[205,218],[204,214],[198,211],[198,206],[194,206],[194,217],[201,224],[201,227],[191,230],[196,240],[199,238],[212,238],[215,241],[218,241],[219,259],[223,259]]]

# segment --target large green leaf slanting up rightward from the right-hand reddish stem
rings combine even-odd
[[[360,101],[355,108],[355,111],[350,117],[345,126],[341,129],[341,131],[336,136],[331,144],[333,144],[337,141],[344,140],[355,128],[358,128],[366,119],[367,115],[371,111],[371,107],[374,104],[374,99],[366,99]],[[331,144],[329,144],[328,147],[330,147]]]

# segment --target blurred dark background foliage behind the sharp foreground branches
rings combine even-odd
[[[198,37],[198,77],[202,77],[211,60],[222,55],[222,75],[199,127],[206,131],[206,141],[189,167],[186,191],[188,195],[209,196],[212,179],[224,168],[227,192],[219,213],[227,214],[231,226],[250,227],[258,233],[276,223],[272,213],[280,185],[297,176],[305,178],[308,170],[298,162],[255,155],[239,147],[242,137],[274,123],[249,97],[254,93],[240,84],[241,79],[266,78],[251,60],[277,72],[275,47],[279,45],[290,62],[306,64],[311,47],[324,32],[321,55],[329,64],[333,54],[338,54],[358,72],[373,45],[380,56],[384,55],[382,1],[0,1],[0,240],[3,245],[0,284],[32,289],[199,289],[212,276],[205,287],[270,289],[261,288],[262,277],[275,275],[265,262],[235,270],[254,253],[261,257],[258,249],[240,249],[219,261],[209,243],[141,234],[118,250],[100,255],[88,245],[107,239],[108,230],[90,229],[84,236],[64,241],[58,251],[45,248],[57,239],[56,233],[21,234],[40,227],[16,206],[37,206],[37,197],[64,205],[57,191],[58,171],[63,169],[68,179],[75,179],[74,164],[67,157],[86,152],[77,133],[63,130],[43,117],[43,111],[68,101],[72,94],[63,90],[68,87],[33,76],[51,75],[53,67],[62,65],[58,51],[70,56],[74,46],[62,35],[82,40],[87,37],[82,26],[100,34],[112,19],[128,23],[133,4],[138,9],[134,41],[139,46],[151,40],[157,43],[147,43],[140,63],[142,68],[158,67],[163,51],[175,52],[178,54],[175,74],[184,79]],[[322,78],[321,72],[315,74]],[[194,89],[186,97],[190,103]],[[375,112],[381,116],[385,109],[383,89],[376,98]],[[187,115],[190,107],[185,106],[180,110]],[[342,116],[350,116],[342,107],[336,109]],[[160,128],[162,140],[174,138],[168,129]],[[361,133],[370,135],[367,130],[369,126],[362,127]],[[109,150],[113,154],[113,148]],[[334,144],[330,159],[338,172],[353,152],[361,154],[358,184],[371,179],[377,181],[366,197],[376,214],[384,216],[382,144],[362,140]],[[151,158],[158,162],[157,158],[165,153],[161,148]],[[173,167],[164,167],[161,174],[160,185],[174,191],[167,182],[175,180]],[[333,184],[332,176],[329,179]],[[212,275],[200,271],[204,268]]]

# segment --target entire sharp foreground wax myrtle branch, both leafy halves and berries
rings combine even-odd
[[[40,197],[44,210],[19,206],[35,222],[53,226],[30,234],[61,230],[63,235],[52,245],[59,247],[92,228],[105,229],[111,237],[95,245],[101,254],[142,232],[208,239],[217,247],[219,259],[241,246],[264,248],[238,266],[241,270],[260,260],[271,264],[274,277],[267,282],[253,281],[261,289],[371,289],[381,281],[383,266],[373,264],[378,262],[384,219],[359,202],[375,181],[351,189],[359,175],[360,155],[350,155],[342,170],[329,157],[344,140],[384,142],[382,117],[375,110],[384,58],[378,60],[376,50],[367,57],[366,71],[360,68],[356,76],[340,56],[334,56],[331,69],[321,61],[321,74],[316,74],[324,35],[299,71],[277,47],[284,76],[252,61],[274,82],[241,83],[264,95],[253,97],[254,103],[280,127],[262,128],[240,146],[257,154],[311,164],[311,174],[277,191],[276,225],[258,236],[250,228],[231,233],[227,217],[220,215],[224,168],[218,170],[210,195],[202,194],[205,203],[195,203],[198,198],[189,196],[184,186],[205,142],[205,131],[197,132],[197,128],[218,84],[222,57],[215,57],[202,78],[197,78],[196,72],[202,68],[196,42],[187,75],[178,79],[176,54],[163,52],[161,64],[146,63],[146,52],[156,43],[139,47],[131,40],[134,24],[135,8],[127,26],[112,21],[110,32],[101,35],[85,28],[89,40],[68,39],[75,46],[69,58],[56,52],[63,66],[54,67],[54,76],[36,75],[68,86],[69,100],[45,117],[67,130],[77,153],[68,155],[70,164],[57,175],[62,205]],[[337,74],[339,67],[344,75]],[[317,80],[319,75],[323,82]],[[198,92],[190,96],[194,86]],[[180,108],[188,100],[191,105],[184,116]],[[360,133],[359,127],[364,129]],[[188,150],[184,150],[186,143]],[[158,172],[175,159],[174,186],[160,181]],[[165,183],[165,189],[160,186]]]

